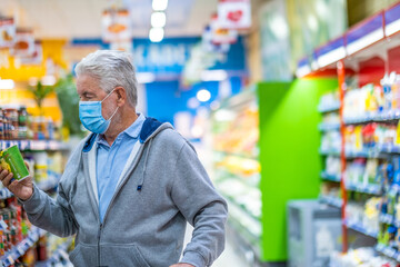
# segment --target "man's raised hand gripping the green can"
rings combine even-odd
[[[32,176],[29,176],[21,181],[17,181],[12,179],[12,177],[13,175],[11,172],[9,172],[7,169],[2,169],[0,166],[0,180],[3,186],[7,187],[19,199],[29,199],[33,194]]]

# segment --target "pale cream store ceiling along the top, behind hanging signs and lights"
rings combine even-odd
[[[101,13],[116,3],[131,10],[133,37],[148,37],[151,0],[0,0],[0,14],[13,16],[43,38],[96,38],[101,36]],[[218,0],[169,0],[166,37],[200,36],[217,11]]]

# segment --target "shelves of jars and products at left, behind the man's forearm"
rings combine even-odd
[[[36,185],[53,194],[63,172],[66,144],[57,140],[59,131],[51,119],[30,116],[24,107],[0,107],[0,149],[18,146]],[[48,263],[69,263],[61,259],[60,251],[53,261],[47,261],[51,243],[59,237],[31,226],[27,215],[13,195],[0,184],[0,266],[13,266],[14,263],[33,266],[36,260]],[[58,250],[57,250],[58,251]],[[62,253],[61,253],[62,254]],[[57,256],[58,255],[58,256]],[[67,255],[68,256],[68,255]]]

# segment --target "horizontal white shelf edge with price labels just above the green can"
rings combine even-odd
[[[57,140],[0,140],[1,150],[18,146],[21,151],[67,150],[66,144]]]

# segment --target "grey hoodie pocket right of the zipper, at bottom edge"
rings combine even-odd
[[[150,267],[134,245],[101,245],[101,265],[109,267]]]

